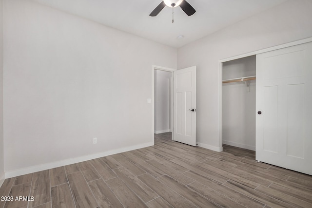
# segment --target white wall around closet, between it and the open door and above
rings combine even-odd
[[[178,69],[197,67],[197,142],[221,151],[219,60],[312,37],[312,1],[289,0],[178,49]]]

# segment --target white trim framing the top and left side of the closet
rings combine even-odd
[[[307,43],[307,42],[312,42],[312,38],[305,38],[302,40],[297,40],[297,41],[293,41],[290,43],[285,43],[285,44],[281,44],[281,45],[277,45],[277,46],[273,46],[270,48],[266,48],[266,49],[261,49],[258,51],[254,51],[254,52],[250,52],[247,54],[242,54],[242,55],[238,55],[238,56],[234,56],[234,57],[229,57],[229,58],[224,58],[224,59],[220,59],[219,60],[219,86],[218,86],[218,91],[219,91],[219,150],[223,151],[222,148],[222,70],[223,70],[223,62],[226,61],[232,61],[238,58],[244,58],[244,57],[250,57],[250,56],[254,56],[257,54],[262,54],[265,52],[269,52],[269,51],[274,51],[274,50],[278,50],[278,49],[282,49],[282,48],[287,48],[287,47],[291,47],[294,45],[299,45],[299,44],[303,44],[303,43]]]

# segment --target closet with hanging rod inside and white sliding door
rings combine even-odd
[[[312,175],[312,38],[222,63],[223,144]]]

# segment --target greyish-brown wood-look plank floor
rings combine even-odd
[[[170,138],[156,134],[153,147],[6,179],[0,196],[14,200],[0,208],[312,208],[312,176],[257,163],[254,151]]]

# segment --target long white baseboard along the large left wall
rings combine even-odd
[[[154,142],[148,142],[148,143],[134,145],[134,146],[126,147],[126,148],[120,148],[117,150],[111,150],[111,151],[99,152],[96,154],[84,155],[81,157],[76,157],[76,158],[56,161],[56,162],[52,162],[52,163],[46,163],[46,164],[41,164],[41,165],[37,165],[37,166],[22,168],[19,170],[11,170],[11,171],[5,172],[5,178],[12,178],[12,177],[32,173],[32,172],[38,172],[41,170],[48,170],[48,169],[57,168],[57,167],[61,167],[61,166],[71,165],[74,163],[92,160],[92,159],[96,159],[99,157],[105,157],[108,155],[117,154],[117,153],[121,153],[121,152],[125,152],[125,151],[137,150],[140,148],[150,147],[153,145],[154,145]]]

